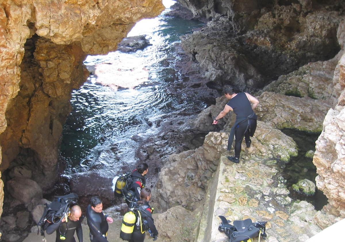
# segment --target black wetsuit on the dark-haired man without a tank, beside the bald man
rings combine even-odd
[[[108,242],[106,234],[109,226],[107,222],[107,215],[102,212],[97,213],[92,210],[89,204],[86,208],[87,224],[90,228],[90,241],[91,242]]]

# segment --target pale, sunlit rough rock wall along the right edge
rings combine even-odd
[[[339,24],[337,36],[345,49],[345,20]],[[317,168],[317,187],[328,198],[325,210],[345,217],[345,53],[339,59],[333,77],[334,95],[338,102],[323,122],[323,131],[316,141],[313,163]],[[321,216],[321,215],[320,215]]]

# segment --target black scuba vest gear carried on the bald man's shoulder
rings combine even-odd
[[[53,201],[49,205],[46,205],[42,217],[37,223],[37,234],[39,234],[39,231],[41,231],[41,235],[44,236],[44,231],[47,229],[49,224],[60,223],[64,217],[66,218],[67,222],[67,217],[70,215],[69,208],[73,205],[76,205],[77,200],[78,195],[76,193],[71,193],[65,196],[55,196]],[[39,229],[39,226],[41,229]]]

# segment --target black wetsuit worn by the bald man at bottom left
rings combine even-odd
[[[76,230],[79,242],[83,242],[83,230],[81,228],[80,220],[72,221],[68,219],[67,223],[52,223],[47,227],[46,232],[47,234],[52,234],[54,233],[54,231],[56,231],[55,242],[76,242],[76,239],[74,238],[74,233],[76,232]],[[61,234],[63,234],[66,237],[65,240],[60,240]]]

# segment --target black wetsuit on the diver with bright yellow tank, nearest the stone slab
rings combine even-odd
[[[141,206],[137,205],[137,208],[141,214],[141,220],[142,220],[141,224],[142,224],[143,232],[150,229],[153,235],[158,235],[158,231],[156,229],[154,220],[152,218],[152,212],[151,212],[152,210],[148,202],[144,202],[144,204]],[[134,225],[132,239],[129,240],[129,242],[143,242],[144,240],[145,240],[145,233],[141,233],[140,217],[137,216],[137,222]]]

